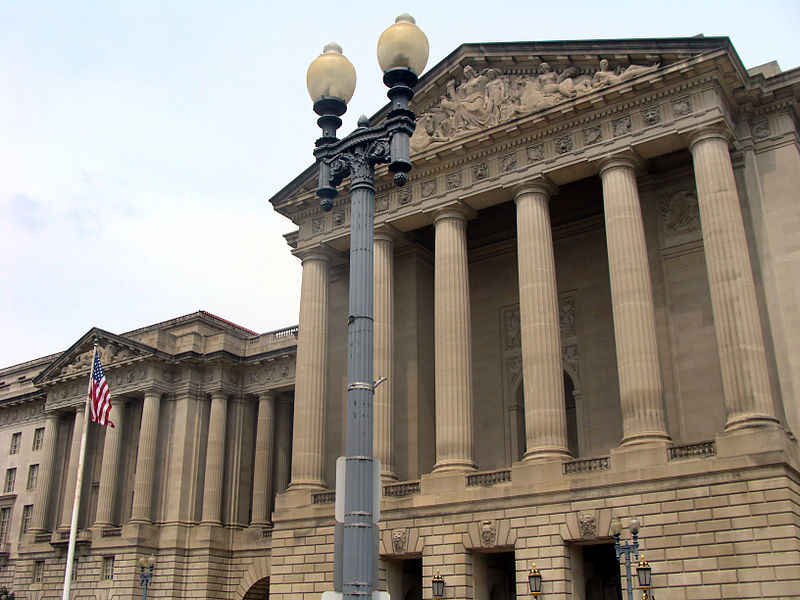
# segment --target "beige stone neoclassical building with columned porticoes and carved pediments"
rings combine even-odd
[[[421,78],[410,181],[376,184],[382,590],[522,598],[535,563],[542,598],[618,598],[635,516],[657,597],[800,596],[798,98],[727,38],[467,44]],[[159,598],[333,588],[349,210],[315,187],[270,200],[299,328],[198,312],[0,370],[18,598],[60,597],[94,335],[124,418],[89,432],[75,597],[137,597],[151,554]]]

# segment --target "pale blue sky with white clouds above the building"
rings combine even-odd
[[[380,33],[428,68],[466,42],[727,35],[800,66],[800,2],[0,0],[0,367],[197,310],[297,323],[293,224],[268,199],[313,162],[308,64],[358,73],[344,134],[386,102]]]

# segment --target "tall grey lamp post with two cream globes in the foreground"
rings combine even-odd
[[[408,181],[409,139],[416,118],[408,103],[413,86],[428,61],[428,39],[407,14],[378,40],[378,63],[389,87],[392,109],[382,125],[370,127],[366,117],[343,139],[336,137],[347,102],[353,96],[356,73],[337,44],[328,44],[309,66],[308,92],[322,137],[314,156],[319,165],[322,209],[333,208],[336,186],[350,175],[350,287],[347,325],[347,438],[345,442],[344,526],[342,528],[342,593],[345,600],[370,598],[376,577],[373,545],[372,403],[372,244],[375,165],[389,163],[395,184]]]

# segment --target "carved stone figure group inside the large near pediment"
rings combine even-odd
[[[411,148],[420,151],[448,142],[466,132],[493,127],[650,73],[659,66],[656,63],[611,69],[603,59],[597,69],[569,66],[555,70],[543,62],[535,74],[518,74],[503,73],[494,67],[477,72],[467,65],[461,81],[448,81],[445,94],[417,117]]]

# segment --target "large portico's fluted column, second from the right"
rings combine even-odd
[[[625,155],[600,166],[623,445],[669,439],[636,166]]]

